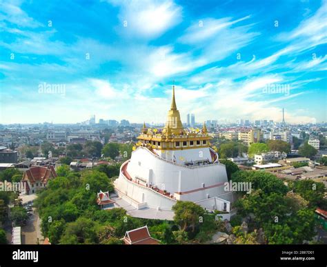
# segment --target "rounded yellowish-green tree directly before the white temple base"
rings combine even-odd
[[[175,223],[181,226],[183,230],[192,227],[192,232],[199,226],[199,217],[204,215],[204,209],[191,201],[177,201],[172,206],[172,210],[175,212]]]

